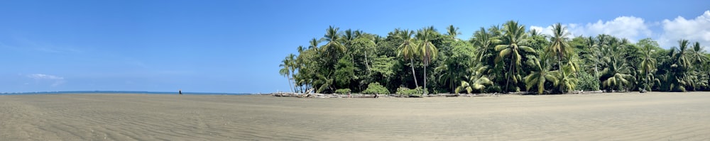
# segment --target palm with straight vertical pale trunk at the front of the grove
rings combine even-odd
[[[434,29],[434,26],[430,26],[429,28],[424,28],[421,30],[417,30],[417,39],[419,40],[419,51],[420,51],[420,57],[422,57],[422,63],[424,64],[424,94],[427,94],[427,67],[429,66],[429,63],[432,62],[432,59],[435,59],[437,55],[439,54],[439,51],[437,50],[437,47],[432,44],[432,40],[434,40],[435,35],[437,34],[437,31]]]

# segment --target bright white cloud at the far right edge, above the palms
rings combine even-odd
[[[685,19],[682,16],[672,21],[665,19],[661,26],[663,33],[657,40],[662,47],[677,46],[677,40],[680,39],[699,42],[703,46],[710,45],[710,11],[705,11],[695,19]]]

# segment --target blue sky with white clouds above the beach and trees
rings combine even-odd
[[[280,60],[328,26],[386,35],[519,21],[710,45],[710,1],[0,1],[0,92],[286,91]],[[664,40],[664,41],[661,41]]]

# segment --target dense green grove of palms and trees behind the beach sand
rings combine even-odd
[[[710,55],[699,43],[679,40],[665,50],[646,38],[611,35],[568,38],[526,30],[516,21],[481,27],[470,40],[459,28],[396,28],[386,36],[330,26],[322,38],[297,47],[280,64],[293,91],[318,93],[410,89],[423,93],[531,91],[708,91]],[[420,88],[422,87],[422,88]],[[371,91],[368,91],[372,93]]]

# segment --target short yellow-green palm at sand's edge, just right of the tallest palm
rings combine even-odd
[[[525,87],[528,91],[532,86],[537,86],[537,94],[542,94],[545,91],[545,81],[557,82],[555,75],[550,73],[552,65],[548,59],[548,55],[545,52],[540,52],[538,57],[533,57],[530,60],[530,64],[533,66],[533,71],[528,74],[525,79]]]

